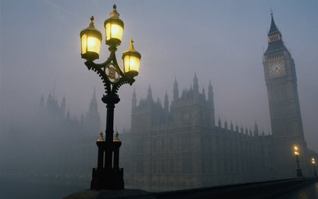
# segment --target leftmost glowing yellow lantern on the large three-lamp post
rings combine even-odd
[[[82,58],[90,61],[98,59],[102,45],[102,33],[95,28],[93,16],[90,18],[90,25],[81,31],[80,36]]]

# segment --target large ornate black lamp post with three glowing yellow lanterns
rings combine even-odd
[[[86,67],[96,72],[105,87],[105,95],[102,102],[107,107],[105,140],[100,133],[97,140],[98,145],[98,166],[93,168],[90,189],[124,189],[124,169],[119,169],[119,147],[122,142],[119,140],[118,132],[114,135],[114,105],[120,98],[117,91],[123,84],[132,85],[135,81],[134,76],[139,73],[141,54],[134,49],[134,41],[130,40],[129,50],[126,50],[122,59],[124,71],[120,69],[115,52],[117,46],[122,43],[124,32],[124,22],[119,18],[117,6],[113,6],[110,18],[105,20],[106,45],[109,45],[110,57],[102,64],[95,64],[95,59],[99,58],[100,46],[102,43],[102,33],[95,28],[94,17],[90,18],[88,28],[81,30],[81,57],[86,59]]]

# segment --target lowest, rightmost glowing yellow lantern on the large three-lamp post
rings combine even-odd
[[[134,41],[130,40],[129,50],[122,54],[124,62],[124,73],[128,76],[137,76],[139,74],[141,54],[134,49]]]

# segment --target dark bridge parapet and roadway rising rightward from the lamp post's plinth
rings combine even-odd
[[[317,184],[318,178],[293,178],[281,181],[170,191],[156,193],[156,195],[160,199],[318,199]]]

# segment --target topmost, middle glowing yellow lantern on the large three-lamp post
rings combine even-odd
[[[104,22],[106,33],[106,44],[109,46],[118,46],[122,43],[122,34],[124,33],[124,22],[119,18],[117,6],[113,6],[114,10],[110,13],[110,18]]]

